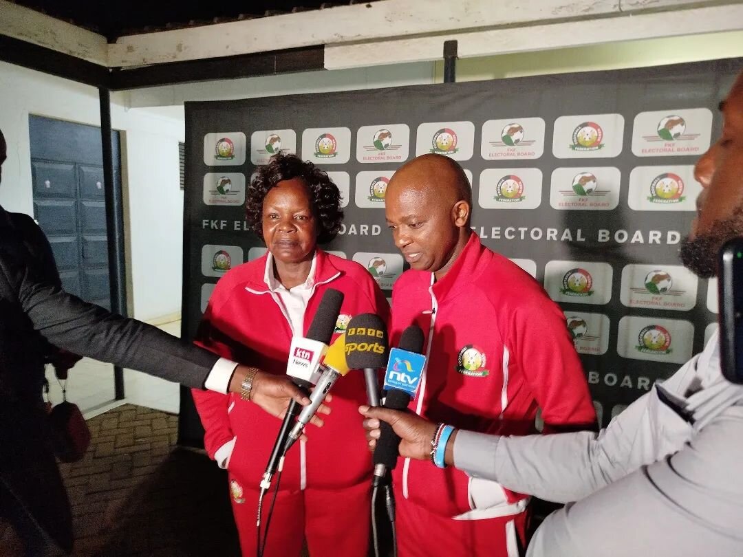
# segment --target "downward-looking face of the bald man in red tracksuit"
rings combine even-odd
[[[387,188],[385,216],[395,245],[410,268],[435,273],[450,264],[459,230],[452,206],[435,198],[435,188],[392,182]]]

